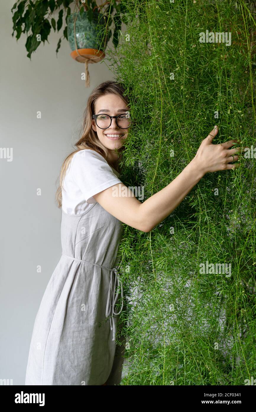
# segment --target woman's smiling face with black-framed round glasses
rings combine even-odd
[[[95,115],[105,114],[109,116],[118,116],[122,113],[128,113],[129,115],[129,108],[120,96],[109,93],[97,98],[95,103]],[[103,116],[101,120],[98,116],[97,119],[98,124],[100,124],[101,127],[106,126],[106,124],[104,124],[104,122],[107,121],[106,116]],[[121,129],[116,124],[116,119],[112,119],[111,125],[107,129],[101,129],[97,126],[95,119],[92,119],[92,129],[97,132],[101,143],[110,150],[119,149],[123,145],[123,140],[127,137],[129,131],[129,129]]]

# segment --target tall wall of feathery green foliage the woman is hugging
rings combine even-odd
[[[251,150],[240,168],[207,173],[150,233],[125,226],[130,366],[122,384],[244,385],[256,378],[256,6],[123,3],[129,23],[109,57],[135,120],[122,181],[144,186],[145,201],[178,176],[215,124],[214,143],[239,138]],[[199,42],[206,30],[231,33],[231,44]],[[201,273],[206,261],[231,272]]]

